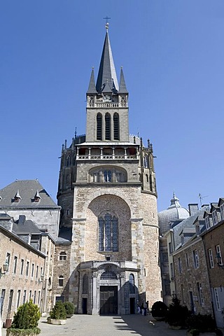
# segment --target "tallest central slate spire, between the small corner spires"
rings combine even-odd
[[[102,92],[108,80],[111,92],[118,92],[118,79],[116,75],[116,69],[113,63],[113,55],[111,50],[111,43],[109,40],[108,29],[106,29],[106,36],[104,40],[104,48],[102,52],[101,61],[99,64],[99,73],[97,77],[97,92]]]

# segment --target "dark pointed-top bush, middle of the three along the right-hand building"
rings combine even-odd
[[[176,295],[172,295],[172,304],[169,304],[165,321],[169,325],[179,325],[182,328],[186,328],[186,321],[189,316],[188,307],[182,306],[179,298]]]

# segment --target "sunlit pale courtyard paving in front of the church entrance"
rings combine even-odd
[[[41,334],[48,336],[186,336],[186,330],[172,330],[167,323],[157,322],[149,316],[123,315],[73,315],[65,325],[47,323],[46,317],[39,321]],[[6,336],[6,329],[2,329]]]

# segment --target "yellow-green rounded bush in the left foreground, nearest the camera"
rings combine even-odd
[[[37,328],[38,321],[41,318],[41,312],[38,306],[29,300],[25,304],[22,304],[18,308],[17,313],[13,317],[12,329],[34,329],[39,330],[36,333],[40,333],[41,330]],[[10,329],[11,329],[10,328]]]

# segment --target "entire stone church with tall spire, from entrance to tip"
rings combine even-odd
[[[86,134],[62,146],[59,172],[54,295],[79,314],[134,314],[138,302],[161,300],[153,147],[129,134],[108,27],[86,94]]]

